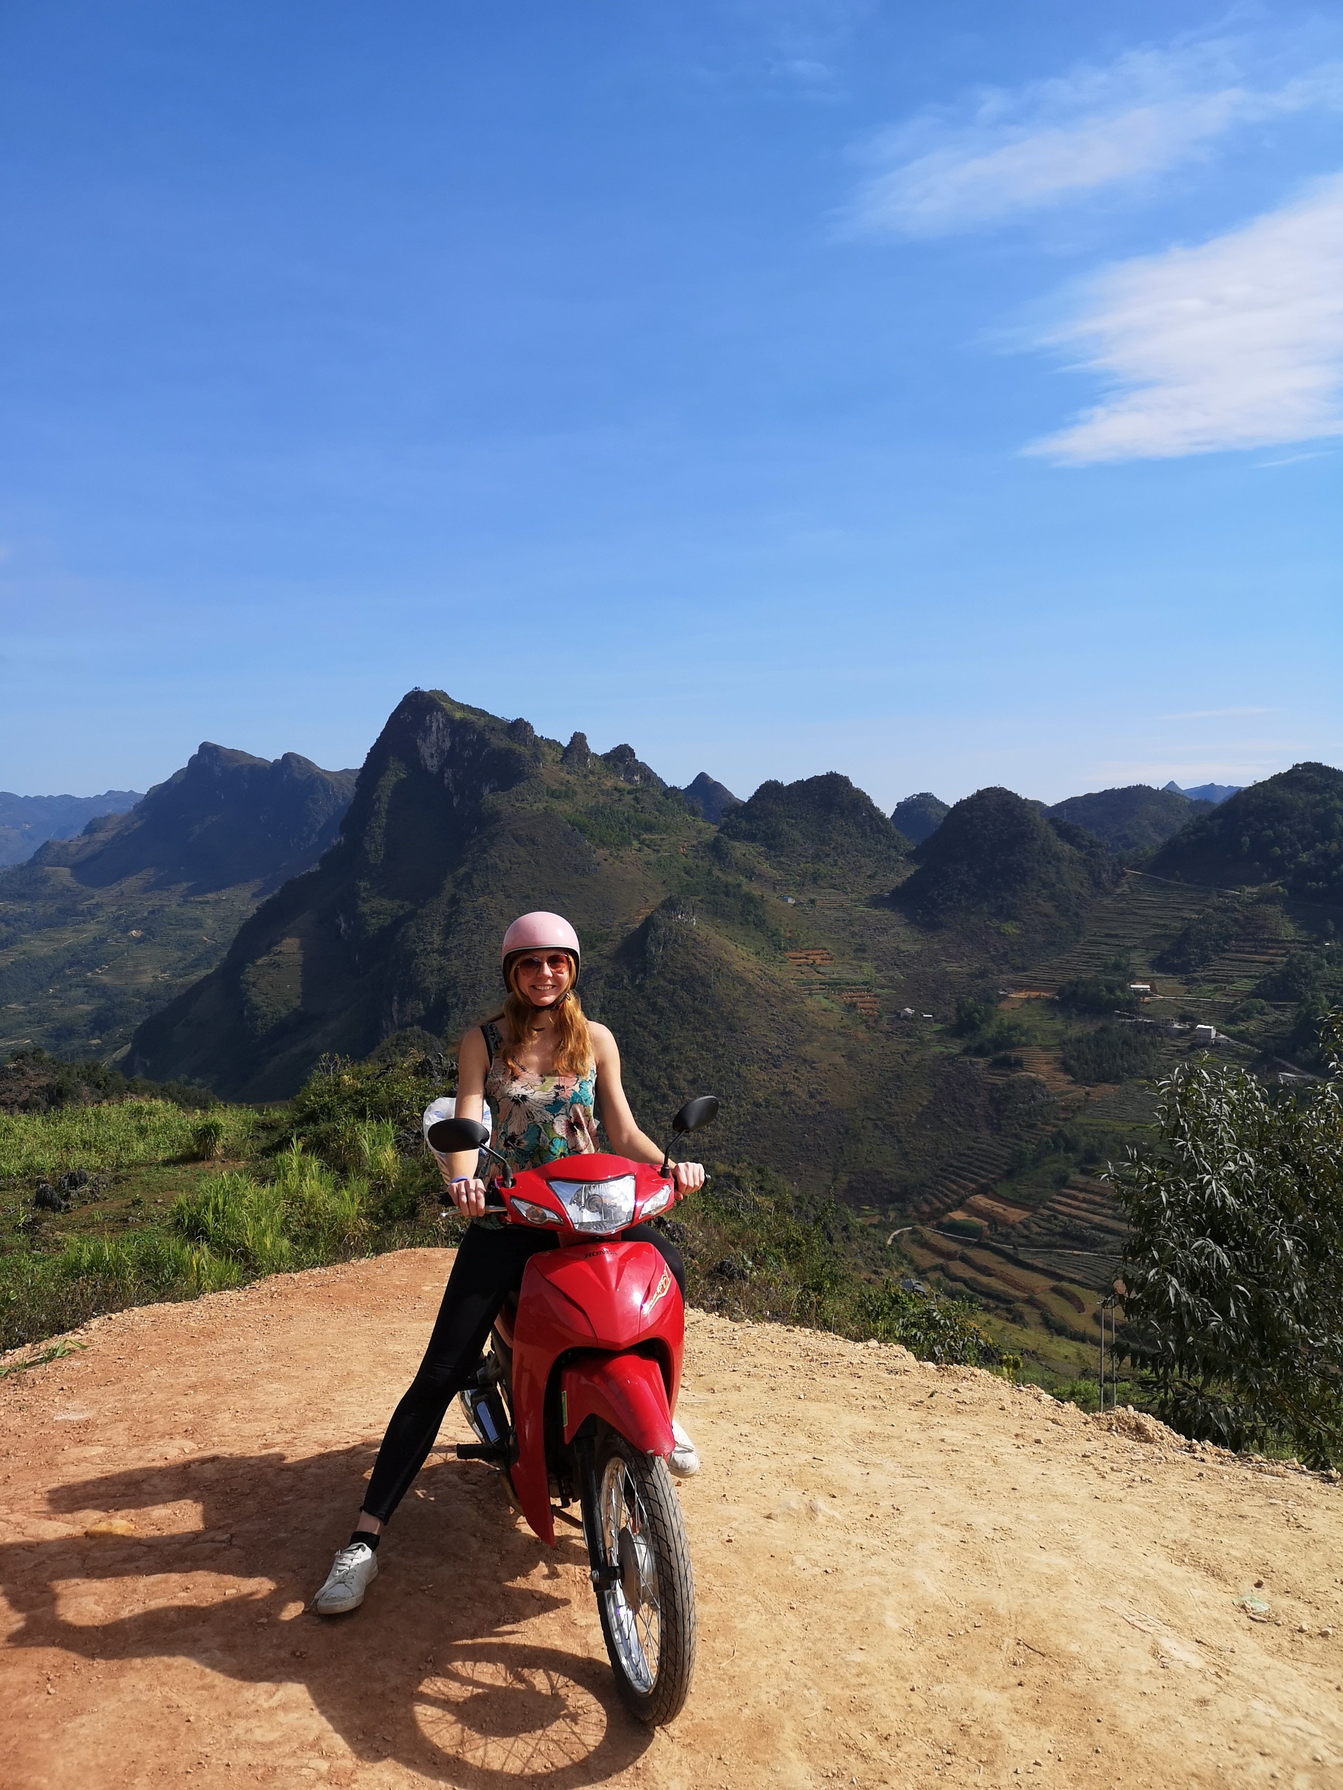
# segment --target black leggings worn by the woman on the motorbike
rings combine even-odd
[[[652,1224],[632,1224],[620,1233],[625,1242],[650,1242],[675,1274],[686,1296],[680,1251]],[[553,1232],[526,1232],[516,1224],[501,1230],[467,1226],[457,1249],[448,1289],[433,1321],[430,1346],[401,1403],[392,1412],[369,1480],[364,1509],[381,1523],[410,1491],[410,1482],[439,1436],[448,1405],[476,1371],[505,1298],[523,1283],[523,1269],[537,1249],[557,1248]]]

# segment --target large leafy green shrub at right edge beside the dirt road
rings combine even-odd
[[[1343,1459],[1343,1015],[1329,1079],[1279,1095],[1182,1065],[1157,1149],[1112,1180],[1128,1217],[1126,1339],[1160,1416],[1232,1448]]]

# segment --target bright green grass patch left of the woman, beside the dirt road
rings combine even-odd
[[[329,1063],[313,1081],[306,1101],[260,1115],[122,1099],[0,1117],[0,1348],[129,1305],[453,1242],[415,1070]],[[97,1178],[70,1212],[38,1208],[34,1183],[70,1169]]]

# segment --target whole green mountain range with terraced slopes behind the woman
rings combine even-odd
[[[1194,1019],[1307,1063],[1343,997],[1343,773],[1216,807],[913,800],[919,843],[838,773],[738,802],[441,691],[358,775],[202,746],[0,872],[7,1042],[272,1101],[322,1056],[451,1049],[498,1010],[507,922],[559,908],[648,1129],[713,1090],[720,1165],[842,1198],[922,1276],[1082,1335],[1123,1235],[1094,1171],[1139,1135],[1144,1079]]]

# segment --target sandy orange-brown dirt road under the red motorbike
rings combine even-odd
[[[1343,1487],[702,1314],[672,1729],[457,1414],[364,1609],[308,1615],[448,1260],[124,1312],[0,1382],[7,1790],[1343,1783]]]

